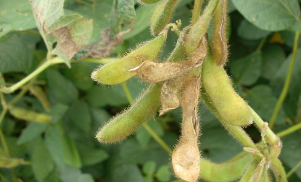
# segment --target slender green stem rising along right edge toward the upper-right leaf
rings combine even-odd
[[[290,78],[291,78],[291,75],[292,75],[292,72],[293,72],[294,62],[295,62],[296,53],[297,53],[297,49],[298,49],[299,35],[300,35],[300,32],[296,31],[295,40],[294,40],[294,47],[293,47],[293,53],[292,53],[292,57],[291,57],[291,60],[290,60],[290,63],[289,63],[289,67],[288,67],[287,75],[286,75],[286,78],[285,78],[284,86],[283,86],[282,92],[280,94],[280,97],[279,97],[279,99],[276,103],[276,106],[275,106],[274,112],[271,116],[271,119],[269,120],[269,125],[270,125],[271,129],[274,127],[275,120],[277,118],[279,110],[281,109],[282,103],[283,103],[283,101],[286,97],[286,94],[288,92]]]

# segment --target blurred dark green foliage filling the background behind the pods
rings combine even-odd
[[[286,3],[293,0],[284,1]],[[112,3],[112,0],[67,0],[64,9],[66,14],[79,13],[93,19],[93,43],[100,40],[100,31],[110,26]],[[142,6],[135,1],[134,3],[134,28],[123,36],[123,43],[117,46],[111,57],[122,55],[137,43],[152,38],[149,24],[156,5]],[[258,27],[265,28],[264,26],[254,26],[249,22],[248,14],[237,11],[239,2],[234,4],[229,0],[230,57],[226,69],[232,76],[236,91],[268,121],[284,85],[294,31],[299,27],[291,28],[294,22],[289,22],[288,19],[286,25],[262,30]],[[192,8],[193,0],[182,0],[173,20],[181,19],[182,27],[187,26]],[[300,9],[298,14],[298,10],[290,8],[293,8],[292,13],[297,12],[296,16],[299,18]],[[270,15],[276,13],[271,10]],[[123,29],[127,29],[127,26]],[[0,0],[0,72],[6,83],[16,83],[45,59],[47,49],[35,27],[28,0]],[[269,28],[270,31],[267,31]],[[177,36],[169,33],[162,59],[167,57],[176,41]],[[91,72],[97,66],[94,63],[74,63],[69,69],[63,64],[55,65],[33,81],[32,84],[38,85],[46,94],[50,110],[43,108],[32,91],[19,99],[15,106],[50,114],[50,123],[24,121],[9,113],[4,116],[0,125],[0,157],[6,151],[3,145],[5,140],[10,157],[22,159],[25,163],[14,168],[3,165],[0,168],[1,182],[16,177],[24,182],[176,180],[172,174],[170,156],[144,128],[117,144],[103,145],[95,139],[97,130],[106,121],[129,106],[122,85],[98,85],[90,79]],[[147,86],[137,79],[126,85],[133,98]],[[6,102],[19,92],[5,94]],[[202,157],[223,162],[242,151],[242,146],[232,139],[202,103],[200,116]],[[148,124],[173,149],[179,137],[180,122],[181,110],[176,109],[164,116],[155,116]],[[300,122],[301,49],[298,49],[288,95],[276,119],[274,131],[280,132]],[[260,140],[260,133],[253,126],[245,130],[255,142]],[[282,141],[280,159],[286,171],[289,171],[301,161],[301,131],[284,136]],[[301,182],[301,168],[289,181]]]

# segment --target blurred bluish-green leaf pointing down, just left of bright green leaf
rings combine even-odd
[[[62,170],[64,168],[64,148],[60,133],[55,126],[47,128],[45,132],[45,143],[53,161],[59,169]]]

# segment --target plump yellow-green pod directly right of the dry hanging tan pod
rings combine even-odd
[[[208,99],[224,122],[235,126],[251,124],[249,105],[234,91],[224,68],[217,67],[211,51],[202,65],[202,83]]]

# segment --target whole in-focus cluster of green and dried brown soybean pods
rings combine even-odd
[[[92,79],[101,84],[119,84],[134,76],[150,83],[130,108],[99,130],[96,138],[101,143],[123,140],[158,110],[163,115],[181,106],[181,136],[171,155],[176,177],[188,182],[196,182],[200,174],[202,179],[212,182],[270,182],[273,178],[285,182],[284,168],[278,159],[280,139],[234,91],[223,68],[228,57],[227,0],[209,0],[203,11],[202,0],[196,0],[192,21],[183,29],[181,21],[170,23],[179,0],[140,0],[145,4],[157,1],[161,4],[154,10],[150,23],[151,33],[156,37],[92,73]],[[209,42],[207,33],[212,18],[214,29]],[[178,41],[170,55],[159,60],[170,27],[179,36]],[[200,98],[244,146],[243,155],[222,164],[201,158]],[[254,144],[241,128],[253,121],[261,130],[262,143]]]

